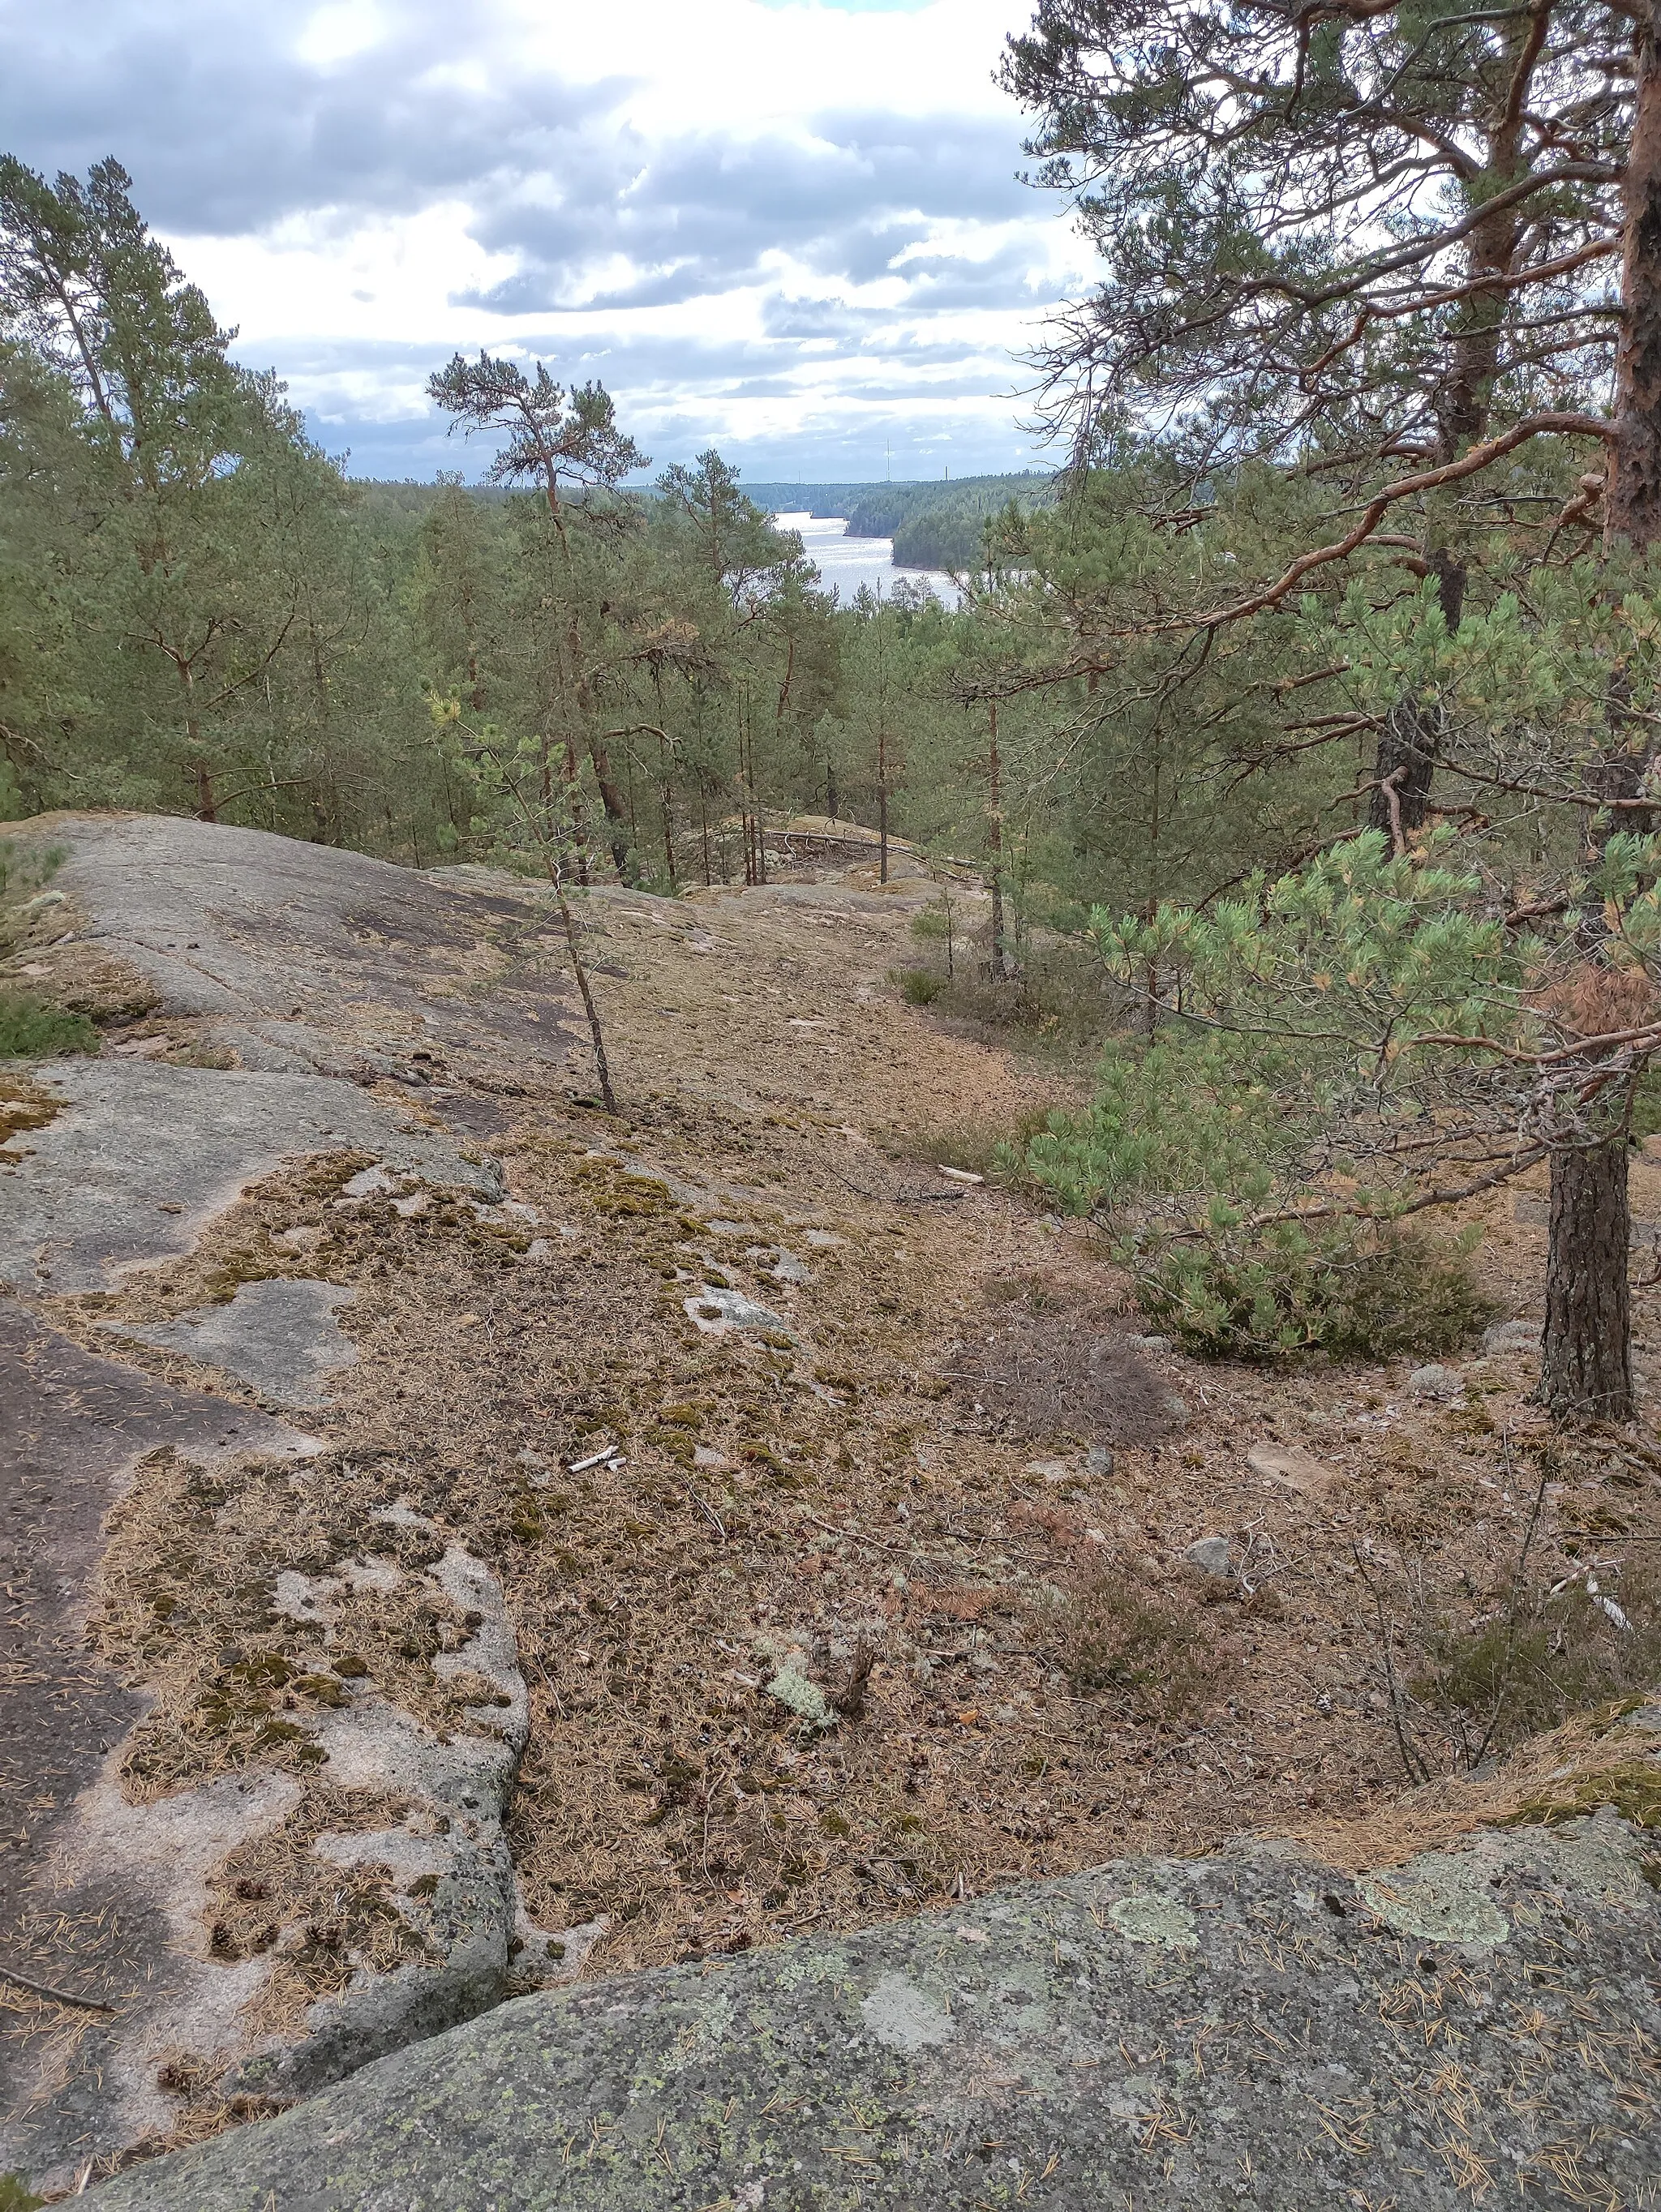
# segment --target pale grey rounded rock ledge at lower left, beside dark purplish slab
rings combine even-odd
[[[283,1610],[323,1626],[347,1575],[349,1566],[316,1579],[290,1573],[274,1595]],[[380,1579],[405,1577],[385,1568]],[[478,1674],[498,1703],[469,1705],[467,1728],[438,1734],[376,1692],[358,1692],[303,1725],[325,1754],[332,1787],[385,1794],[407,1807],[396,1827],[325,1832],[312,1849],[341,1867],[391,1867],[405,1885],[398,1909],[427,1955],[391,1973],[361,1969],[347,1989],[307,2008],[299,2033],[250,2037],[243,2015],[270,1978],[270,1958],[226,1966],[203,1955],[208,1880],[228,1851],[296,1807],[301,1785],[250,1770],[133,1805],[104,1772],[55,1838],[53,1907],[73,1916],[119,1898],[124,1922],[155,1922],[153,1955],[142,1973],[130,1960],[115,1966],[115,2013],[88,2024],[75,2079],[64,2081],[44,2046],[18,2062],[15,2106],[0,2126],[0,2170],[73,2188],[75,2161],[164,2132],[170,2101],[155,2077],[173,2051],[221,2068],[226,2095],[294,2097],[500,2002],[518,1911],[502,1823],[526,1734],[526,1690],[489,1568],[451,1544],[422,1579],[478,1624],[460,1650],[438,1655],[436,1672]],[[411,1896],[407,1885],[422,1876],[431,1878],[429,1891]],[[100,2084],[91,2110],[86,2079]]]

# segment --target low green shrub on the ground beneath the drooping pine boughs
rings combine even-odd
[[[1495,1307],[1471,1272],[1471,1241],[1336,1223],[1278,1223],[1250,1243],[1168,1245],[1137,1267],[1137,1303],[1201,1358],[1281,1360],[1300,1352],[1389,1360],[1435,1356],[1475,1336]]]

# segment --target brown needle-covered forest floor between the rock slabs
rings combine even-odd
[[[1380,1617],[1404,1628],[1413,1593],[1482,1613],[1544,1473],[1537,1573],[1657,1528],[1648,1422],[1557,1438],[1542,1471],[1526,1356],[1466,1363],[1469,1400],[1444,1409],[1404,1391],[1413,1363],[1265,1374],[1132,1349],[1108,1360],[1117,1416],[1009,1433],[967,1374],[986,1338],[1033,1380],[1146,1325],[1086,1225],[933,1161],[1075,1097],[1084,1068],[905,1004],[902,902],[832,905],[703,898],[697,931],[686,907],[670,925],[655,900],[599,905],[626,1121],[564,1093],[506,1102],[491,1148],[535,1223],[341,1203],[347,1161],[252,1190],[119,1301],[60,1301],[91,1343],[95,1321],[252,1272],[356,1285],[361,1365],[321,1422],[336,1506],[396,1495],[500,1571],[531,1686],[515,1860],[542,1929],[602,1922],[584,1971],[1247,1829],[1329,1834],[1404,1787]],[[467,1091],[464,1068],[440,1073]],[[1528,1212],[1497,1201],[1480,1254],[1506,1314],[1539,1310]],[[1634,1212],[1661,1214],[1659,1168],[1634,1168]],[[314,1234],[272,1243],[294,1230]],[[803,1281],[779,1281],[781,1254]],[[781,1325],[701,1329],[686,1298],[712,1281]],[[1661,1347],[1654,1292],[1639,1340]],[[568,1471],[608,1444],[619,1467]],[[1110,1471],[1090,1473],[1090,1444]],[[1247,1464],[1258,1447],[1327,1475],[1292,1489]],[[1228,1586],[1181,1559],[1216,1533],[1243,1566]],[[117,1593],[124,1542],[117,1526]],[[155,1531],[133,1542],[153,1575]],[[1161,1681],[1170,1650],[1148,1683],[1073,1688],[1090,1584],[1177,1624],[1192,1710]],[[203,1628],[199,1666],[175,1646],[179,1712],[221,1637]],[[865,1655],[863,1710],[798,1723],[765,1688],[792,1650],[829,1697]],[[157,1772],[166,1787],[166,1756]],[[1334,1847],[1389,1858],[1409,1832],[1380,1818],[1371,1845],[1351,1827]]]

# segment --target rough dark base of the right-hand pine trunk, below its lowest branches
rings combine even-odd
[[[1559,1418],[1632,1420],[1628,1239],[1626,1130],[1553,1152],[1537,1398]]]

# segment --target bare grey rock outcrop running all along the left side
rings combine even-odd
[[[38,936],[58,931],[40,949],[73,969],[77,942],[97,945],[139,969],[166,1024],[166,1035],[157,1022],[153,1035],[124,1040],[137,1051],[33,1071],[60,1110],[0,1150],[0,1281],[22,1294],[0,1301],[0,1321],[15,1307],[0,1329],[0,1579],[13,1593],[22,1661],[4,1690],[0,1741],[0,1834],[11,1843],[0,1955],[113,2006],[84,2015],[69,2055],[42,2037],[0,2051],[0,2101],[11,2110],[0,2170],[27,2168],[53,2192],[73,2192],[88,2157],[113,2161],[177,2124],[177,2099],[161,2086],[170,2053],[190,2053],[228,2095],[294,2095],[498,2002],[515,1916],[502,1814],[526,1697],[502,1593],[451,1546],[422,1579],[436,1606],[469,1617],[469,1641],[433,1661],[440,1677],[482,1677],[460,1721],[431,1730],[345,1677],[343,1703],[288,1723],[312,1739],[330,1785],[407,1807],[374,1834],[323,1829],[312,1849],[341,1867],[409,1876],[396,1909],[422,1955],[389,1973],[358,1964],[347,1989],[265,2039],[257,2022],[272,1958],[210,1955],[206,1916],[226,1854],[288,1820],[305,1785],[254,1756],[234,1774],[128,1801],[124,1736],[157,1686],[95,1661],[86,1601],[108,1506],[144,1480],[135,1462],[157,1444],[203,1467],[230,1453],[303,1462],[323,1447],[223,1398],[93,1358],[29,1305],[117,1287],[133,1267],[184,1256],[250,1181],[316,1155],[374,1161],[349,1179],[345,1206],[420,1179],[495,1208],[500,1168],[462,1146],[506,1124],[500,1077],[546,1082],[573,1033],[562,1026],[564,984],[549,982],[537,929],[546,900],[533,887],[433,883],[358,854],[179,818],[62,816],[46,836],[69,858],[51,922],[35,911]],[[239,1064],[201,1064],[206,1046],[221,1062],[230,1046]],[[179,1048],[197,1064],[155,1057]],[[420,1086],[422,1104],[460,1135],[411,1124],[403,1106],[343,1079],[387,1073]],[[478,1093],[456,1086],[476,1077]],[[394,1203],[414,1212],[427,1199],[416,1188]],[[489,1219],[529,1214],[504,1208]],[[318,1237],[296,1223],[279,1243],[296,1252]],[[276,1402],[323,1405],[327,1378],[354,1356],[334,1318],[347,1296],[318,1281],[248,1281],[226,1305],[135,1334],[188,1349]],[[122,1336],[106,1343],[117,1352]],[[396,1491],[383,1506],[374,1517],[400,1517]],[[378,1555],[288,1566],[279,1555],[268,1593],[254,1584],[246,1595],[303,1624],[307,1639],[330,1639],[352,1635],[358,1593],[414,1573]],[[27,1759],[15,1756],[22,1743]]]

